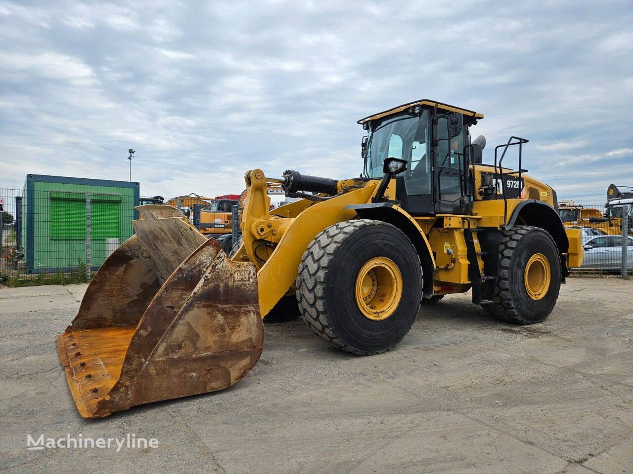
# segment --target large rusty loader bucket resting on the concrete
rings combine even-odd
[[[171,206],[136,209],[136,234],[101,265],[57,337],[85,418],[225,389],[263,346],[254,265],[231,262]]]

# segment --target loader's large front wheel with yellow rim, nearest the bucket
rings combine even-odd
[[[422,298],[422,267],[400,229],[357,219],[316,236],[296,286],[299,311],[316,336],[342,351],[373,355],[410,331]]]

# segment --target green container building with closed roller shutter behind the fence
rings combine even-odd
[[[134,233],[139,183],[27,174],[22,196],[27,274],[77,269],[88,250],[96,270]]]

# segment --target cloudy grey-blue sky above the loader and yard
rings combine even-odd
[[[0,187],[127,180],[130,147],[142,195],[356,176],[356,120],[429,98],[602,204],[633,185],[632,25],[631,0],[0,1]]]

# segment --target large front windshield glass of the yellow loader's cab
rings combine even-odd
[[[426,159],[427,116],[399,115],[380,123],[369,137],[367,157],[365,158],[365,176],[382,178],[382,162],[387,158],[399,158],[408,162],[408,171],[413,171],[420,161]],[[422,159],[425,160],[422,160]],[[403,172],[404,173],[404,172]],[[398,176],[402,176],[402,173]]]

